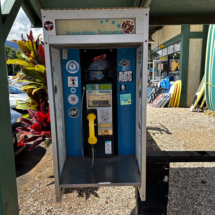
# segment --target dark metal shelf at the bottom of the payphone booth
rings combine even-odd
[[[85,157],[88,165],[92,159]],[[65,162],[61,187],[139,186],[140,173],[135,156],[122,155],[95,158],[89,169],[83,157],[69,157]]]

